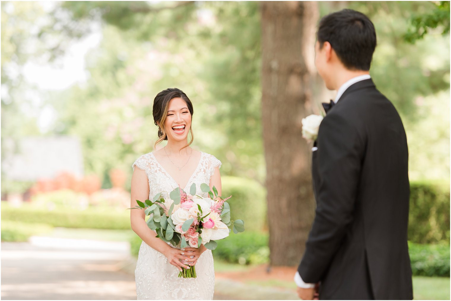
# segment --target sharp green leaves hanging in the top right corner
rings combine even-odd
[[[412,27],[405,34],[405,40],[410,43],[422,39],[431,28],[442,27],[442,34],[450,32],[450,1],[431,1],[435,7],[425,14],[416,14],[411,19]]]

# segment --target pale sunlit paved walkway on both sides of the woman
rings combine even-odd
[[[128,242],[37,237],[1,243],[3,300],[136,300]],[[215,300],[292,300],[289,290],[216,277]]]

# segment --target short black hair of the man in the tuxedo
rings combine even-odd
[[[352,9],[324,16],[319,22],[320,49],[329,42],[343,65],[350,70],[368,71],[376,48],[376,31],[368,17]]]

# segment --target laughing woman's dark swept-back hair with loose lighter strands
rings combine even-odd
[[[156,94],[155,99],[153,100],[153,121],[155,122],[155,125],[158,126],[158,140],[155,142],[156,144],[159,144],[163,140],[167,140],[168,137],[166,135],[166,129],[164,128],[166,116],[168,113],[168,107],[169,102],[173,98],[181,98],[186,102],[186,106],[188,107],[189,112],[191,113],[191,117],[193,117],[193,104],[189,100],[188,96],[186,94],[178,89],[178,88],[167,88],[166,90],[161,91],[160,93]],[[185,146],[188,147],[190,144],[193,143],[194,135],[193,135],[193,126],[189,128],[189,133],[191,134],[191,140],[189,143]]]

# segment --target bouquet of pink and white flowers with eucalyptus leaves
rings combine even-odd
[[[207,192],[209,198],[202,198],[196,194],[196,185],[191,185],[189,194],[181,188],[175,188],[169,194],[169,199],[162,193],[156,194],[153,201],[136,200],[136,208],[144,209],[149,215],[147,226],[154,230],[162,241],[175,247],[198,248],[204,245],[207,249],[216,249],[217,240],[226,238],[233,230],[234,233],[244,231],[244,221],[230,220],[229,198],[218,195],[213,186],[205,183],[200,185],[202,192]],[[196,269],[184,269],[179,277],[196,278]]]

